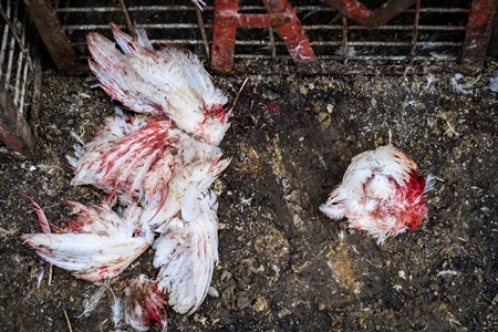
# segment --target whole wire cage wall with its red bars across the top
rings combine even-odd
[[[497,7],[497,0],[391,0],[387,6],[371,0],[365,1],[367,7],[356,0],[294,0],[291,2],[298,24],[318,63],[300,66],[278,30],[291,15],[270,11],[271,3],[287,3],[286,0],[216,0],[215,6],[208,3],[203,12],[189,0],[169,1],[168,6],[151,2],[154,1],[56,1],[54,7],[80,59],[87,58],[85,34],[89,31],[111,37],[110,22],[124,28],[134,23],[146,29],[155,44],[188,48],[201,58],[212,55],[210,63],[218,72],[261,74],[457,70],[477,73],[484,64]],[[231,17],[224,17],[222,24],[234,21],[235,45],[216,38],[214,22],[221,24],[221,20],[217,21],[215,15],[225,15],[226,8],[230,8]],[[397,15],[380,25],[390,14]],[[231,53],[230,48],[234,48]],[[210,54],[210,50],[215,53]],[[226,63],[230,60],[225,58],[232,58],[232,63]]]

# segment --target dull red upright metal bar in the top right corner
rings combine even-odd
[[[460,69],[465,74],[476,74],[484,66],[497,6],[498,0],[473,1],[460,55]]]

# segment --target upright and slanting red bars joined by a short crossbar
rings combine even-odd
[[[216,0],[211,70],[229,73],[234,68],[237,28],[276,27],[295,65],[307,73],[320,65],[293,7],[287,0],[263,0],[268,14],[240,14],[238,0]]]

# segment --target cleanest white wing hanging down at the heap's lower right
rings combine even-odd
[[[209,190],[229,159],[197,160],[176,174],[168,184],[168,197],[144,208],[153,215],[149,226],[159,234],[154,242],[154,266],[159,291],[169,293],[168,304],[179,313],[193,313],[209,289],[218,262],[217,196]],[[144,204],[144,206],[147,206]]]

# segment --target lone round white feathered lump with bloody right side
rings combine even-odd
[[[342,184],[320,209],[332,219],[347,218],[349,227],[367,231],[378,243],[427,218],[425,193],[433,177],[419,176],[415,162],[388,145],[353,157]]]

